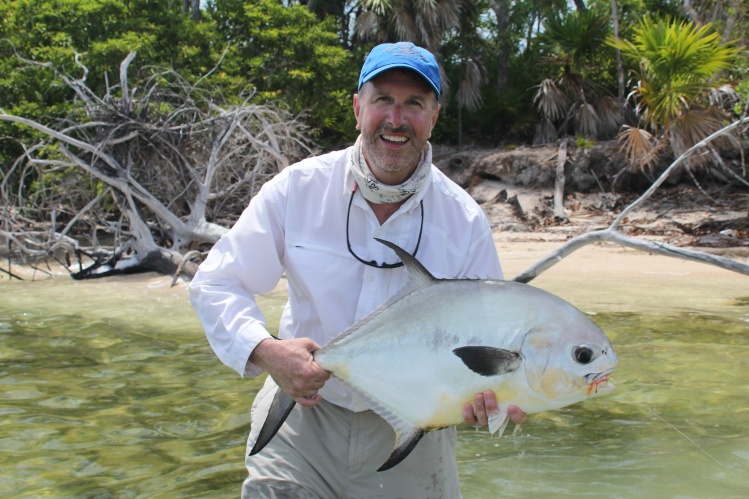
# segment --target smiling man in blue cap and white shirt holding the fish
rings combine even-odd
[[[253,404],[248,450],[277,386],[298,403],[247,458],[243,497],[460,496],[455,428],[428,433],[402,463],[378,473],[392,428],[311,354],[405,283],[406,270],[375,237],[411,252],[436,277],[502,277],[481,209],[431,163],[439,94],[431,53],[405,42],[375,47],[354,95],[356,143],[263,186],[192,281],[192,303],[219,358],[242,375],[270,374]],[[289,301],[278,341],[254,295],[284,273]],[[464,416],[476,426],[497,410],[492,392],[477,394],[474,406]],[[511,415],[524,418],[517,408]]]

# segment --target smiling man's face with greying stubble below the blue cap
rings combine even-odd
[[[434,90],[408,70],[385,71],[354,94],[364,158],[378,180],[397,184],[411,175],[439,110]]]

